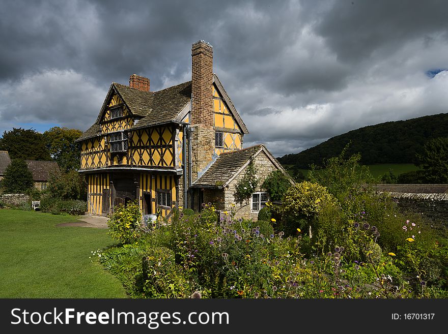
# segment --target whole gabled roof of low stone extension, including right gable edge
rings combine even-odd
[[[193,182],[192,187],[225,188],[261,152],[267,155],[275,167],[286,173],[265,145],[259,144],[221,153],[210,168],[198,180]]]

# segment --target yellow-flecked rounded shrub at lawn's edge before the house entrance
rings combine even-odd
[[[117,205],[107,222],[109,235],[123,244],[131,244],[142,235],[141,219],[140,207],[135,202]]]

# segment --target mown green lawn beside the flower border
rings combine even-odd
[[[107,229],[57,227],[77,217],[0,209],[1,298],[127,298],[91,251],[114,244]]]

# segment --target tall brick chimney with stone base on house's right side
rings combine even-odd
[[[191,47],[191,176],[196,180],[210,165],[215,149],[213,129],[213,47],[198,41]]]

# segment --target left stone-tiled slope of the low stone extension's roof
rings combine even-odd
[[[192,186],[220,188],[263,147],[264,145],[260,144],[237,151],[221,153],[204,175],[195,181]]]

